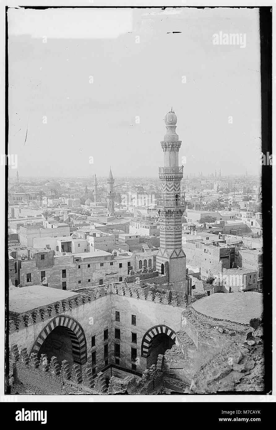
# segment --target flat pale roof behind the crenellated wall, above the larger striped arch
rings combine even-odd
[[[77,296],[72,291],[57,288],[31,285],[22,288],[9,289],[9,310],[11,312],[24,313],[37,307],[48,306],[56,301]]]

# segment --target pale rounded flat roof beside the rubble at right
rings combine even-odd
[[[263,312],[263,295],[257,292],[215,293],[191,305],[206,316],[248,324],[260,318]]]

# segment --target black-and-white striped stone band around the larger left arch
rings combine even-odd
[[[32,352],[38,353],[46,337],[56,327],[64,327],[70,335],[72,342],[73,359],[75,363],[84,364],[87,361],[86,338],[80,324],[73,318],[66,315],[59,315],[53,318],[47,326],[40,332],[34,343]]]

